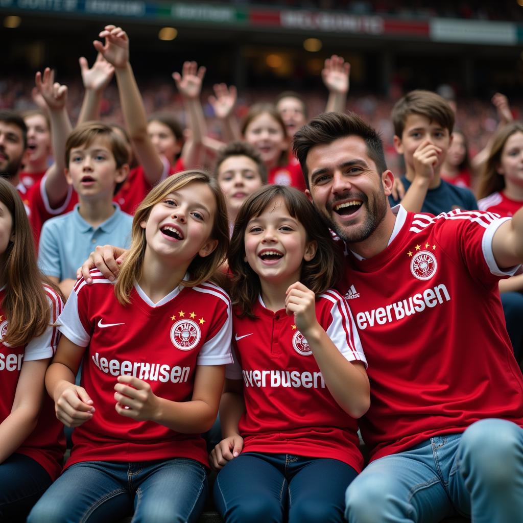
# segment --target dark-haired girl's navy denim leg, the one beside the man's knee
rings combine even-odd
[[[297,458],[288,464],[289,523],[341,523],[345,490],[358,473],[336,459]]]

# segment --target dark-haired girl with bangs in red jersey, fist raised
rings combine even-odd
[[[350,311],[329,289],[331,234],[302,192],[264,187],[238,214],[229,263],[239,365],[211,453],[218,509],[227,522],[342,521],[370,399]]]

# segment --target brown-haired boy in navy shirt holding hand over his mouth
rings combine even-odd
[[[454,127],[454,113],[447,101],[436,93],[414,90],[397,101],[391,117],[394,146],[406,165],[401,178],[406,190],[402,206],[432,214],[477,209],[469,189],[453,186],[440,176]],[[400,203],[392,197],[389,201],[391,206]]]

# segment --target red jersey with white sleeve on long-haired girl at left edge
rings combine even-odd
[[[32,339],[27,345],[13,347],[4,342],[9,319],[4,316],[0,305],[0,423],[10,414],[15,400],[16,385],[24,361],[36,361],[51,358],[58,345],[60,333],[56,320],[62,311],[62,300],[50,287],[46,289],[50,309],[50,326],[38,338]],[[4,288],[0,289],[0,301],[4,298]],[[42,384],[43,385],[43,384]],[[56,419],[54,402],[44,393],[42,408],[36,428],[31,435],[16,450],[39,463],[55,480],[62,470],[62,460],[65,451],[63,425]]]

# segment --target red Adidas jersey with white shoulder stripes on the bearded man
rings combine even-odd
[[[380,254],[348,252],[346,295],[369,362],[371,404],[359,420],[371,459],[483,418],[523,425],[492,237],[505,219],[481,211],[407,213]]]

